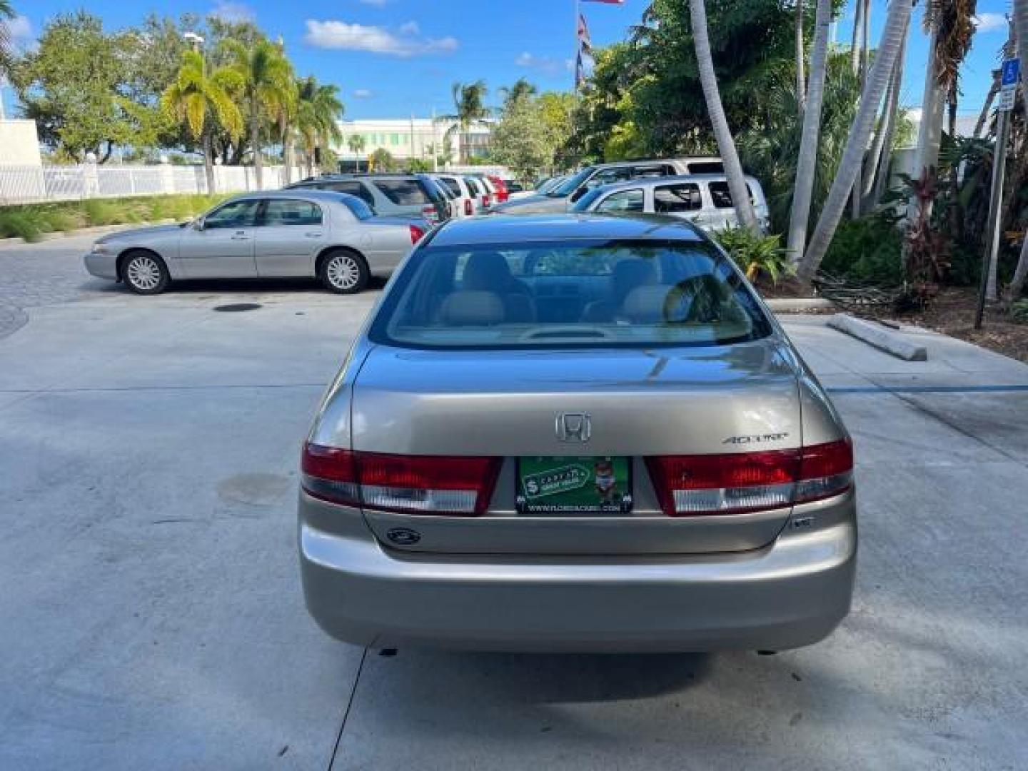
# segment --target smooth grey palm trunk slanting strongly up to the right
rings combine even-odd
[[[864,160],[864,148],[875,123],[878,103],[885,91],[885,84],[892,73],[892,66],[895,64],[896,54],[903,44],[911,8],[910,0],[892,0],[889,4],[882,40],[878,46],[878,54],[875,57],[875,63],[871,67],[864,93],[860,95],[860,105],[856,112],[856,119],[846,138],[846,147],[839,163],[839,171],[832,182],[832,188],[829,190],[821,216],[817,220],[814,234],[810,238],[810,246],[800,263],[798,276],[804,284],[809,284],[817,272],[829,244],[832,242],[832,236],[835,234],[836,227],[839,225],[843,209],[846,207],[846,198],[849,197],[853,180],[856,178],[856,173]]]

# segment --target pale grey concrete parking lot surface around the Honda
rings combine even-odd
[[[817,646],[381,657],[307,617],[294,533],[376,293],[137,297],[84,248],[0,252],[0,768],[1024,767],[1028,366],[784,320],[857,452],[854,607]]]

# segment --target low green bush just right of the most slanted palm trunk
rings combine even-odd
[[[891,217],[843,220],[832,238],[821,270],[886,286],[903,283],[903,234]]]

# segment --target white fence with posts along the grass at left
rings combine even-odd
[[[289,180],[304,176],[294,169]],[[265,190],[281,188],[287,183],[285,168],[264,167],[263,183]],[[244,166],[215,167],[214,187],[213,192],[256,190],[255,171]],[[0,166],[0,205],[207,192],[201,166]]]

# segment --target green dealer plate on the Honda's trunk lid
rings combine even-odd
[[[627,514],[632,510],[631,468],[628,457],[518,458],[518,513]]]

